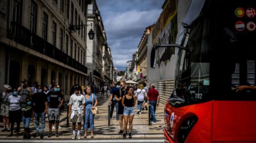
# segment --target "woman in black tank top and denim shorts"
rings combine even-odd
[[[126,138],[126,129],[129,116],[129,138],[131,138],[131,131],[133,130],[133,117],[134,117],[134,105],[136,103],[136,97],[133,95],[133,88],[130,86],[127,88],[127,94],[122,97],[123,109],[123,119],[125,119],[125,124],[123,124],[123,138]]]

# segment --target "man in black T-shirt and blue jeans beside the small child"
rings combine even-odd
[[[47,114],[47,96],[43,93],[42,86],[38,85],[37,92],[32,96],[32,103],[34,104],[35,112],[35,127],[36,133],[34,137],[39,136],[39,120],[41,118],[41,133],[40,138],[44,137],[44,128],[46,127],[46,114]]]

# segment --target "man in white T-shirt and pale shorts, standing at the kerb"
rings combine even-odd
[[[72,120],[72,130],[73,135],[72,139],[76,138],[76,123],[77,123],[77,139],[81,139],[80,129],[81,122],[85,115],[85,99],[84,96],[80,93],[81,87],[79,85],[75,86],[75,94],[73,94],[69,99],[69,110],[68,117]]]

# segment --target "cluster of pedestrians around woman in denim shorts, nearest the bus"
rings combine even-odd
[[[133,130],[133,118],[135,115],[134,106],[137,101],[137,114],[141,115],[143,110],[147,110],[147,102],[149,101],[149,109],[151,114],[151,124],[156,124],[155,110],[159,105],[160,96],[155,85],[151,84],[150,89],[146,87],[146,83],[126,86],[125,81],[121,81],[119,87],[117,83],[113,82],[110,90],[110,118],[113,117],[115,108],[116,119],[119,120],[120,130],[119,135],[123,138],[127,136],[127,124],[129,122],[129,138],[132,138],[131,132]],[[123,121],[124,120],[124,121]]]

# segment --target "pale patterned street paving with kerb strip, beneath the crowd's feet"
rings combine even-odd
[[[163,142],[163,128],[164,128],[164,121],[163,121],[163,108],[164,105],[160,103],[160,105],[156,109],[156,119],[157,122],[154,125],[148,125],[148,111],[144,110],[141,115],[135,114],[133,120],[133,138],[123,140],[122,135],[118,135],[119,132],[119,121],[115,118],[115,110],[113,112],[113,119],[110,120],[110,126],[108,126],[108,101],[109,98],[107,97],[100,97],[98,94],[99,103],[98,103],[98,113],[94,118],[94,139],[90,137],[90,130],[88,129],[88,137],[81,138],[82,142],[84,140],[88,142]],[[137,111],[137,104],[135,105],[135,111]],[[52,136],[50,138],[47,137],[48,129],[48,119],[46,123],[46,130],[44,139],[40,139],[40,137],[31,137],[31,140],[26,140],[25,142],[43,142],[46,140],[47,142],[79,142],[79,140],[71,140],[72,137],[72,129],[71,123],[69,122],[69,127],[66,127],[67,124],[67,110],[61,112],[60,117],[60,126],[59,129],[59,137]],[[14,125],[15,127],[15,125]],[[35,133],[35,121],[30,123],[30,128],[33,133]],[[129,125],[128,127],[129,128]],[[20,125],[20,135],[18,137],[7,137],[10,132],[1,132],[0,135],[0,142],[22,142],[23,138],[23,124]],[[53,130],[54,131],[54,130]],[[54,132],[53,132],[54,133]],[[81,136],[84,133],[81,133]],[[14,133],[15,135],[15,133]],[[19,139],[19,140],[16,140]],[[135,139],[135,140],[134,140]],[[144,139],[144,140],[143,140]],[[50,141],[49,141],[50,140]]]

